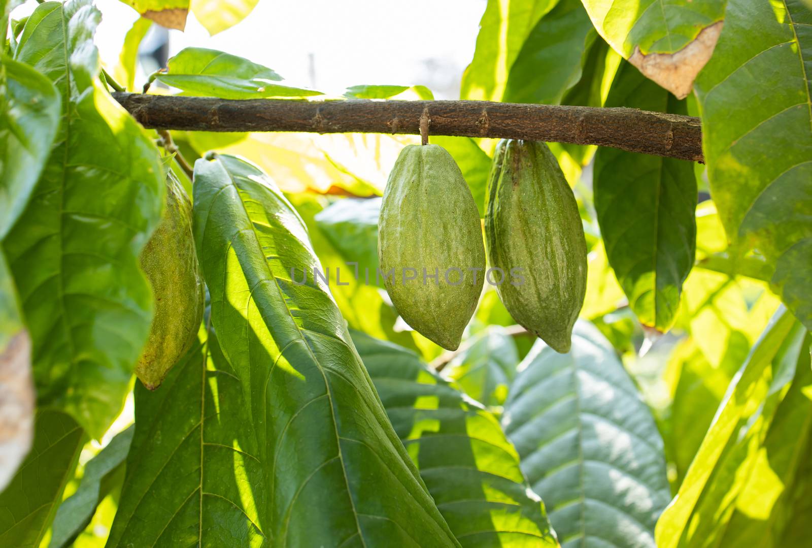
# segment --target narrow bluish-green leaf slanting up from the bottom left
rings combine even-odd
[[[90,523],[99,503],[110,492],[110,484],[123,475],[134,431],[135,428],[130,426],[116,434],[99,454],[84,465],[79,489],[66,498],[56,512],[49,548],[71,546],[73,539]]]

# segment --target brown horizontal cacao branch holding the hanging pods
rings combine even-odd
[[[632,108],[490,101],[243,101],[114,93],[147,128],[217,132],[420,134],[599,145],[702,162],[698,118]]]

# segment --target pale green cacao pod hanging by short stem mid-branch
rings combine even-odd
[[[383,194],[378,259],[403,319],[456,350],[482,292],[485,246],[477,204],[443,147],[400,152]]]

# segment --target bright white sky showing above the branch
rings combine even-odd
[[[422,84],[438,98],[457,98],[485,4],[486,0],[260,0],[245,20],[214,37],[190,12],[186,32],[170,32],[170,56],[186,46],[203,46],[273,68],[290,85],[330,94],[358,84]],[[102,11],[96,43],[106,66],[114,67],[124,34],[138,15],[119,0],[96,0],[96,5]],[[37,3],[29,0],[11,16],[19,19],[35,7]]]

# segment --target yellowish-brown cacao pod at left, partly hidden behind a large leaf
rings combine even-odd
[[[197,340],[205,298],[192,237],[192,202],[168,170],[166,210],[141,251],[140,263],[152,285],[155,307],[136,376],[154,390]]]

